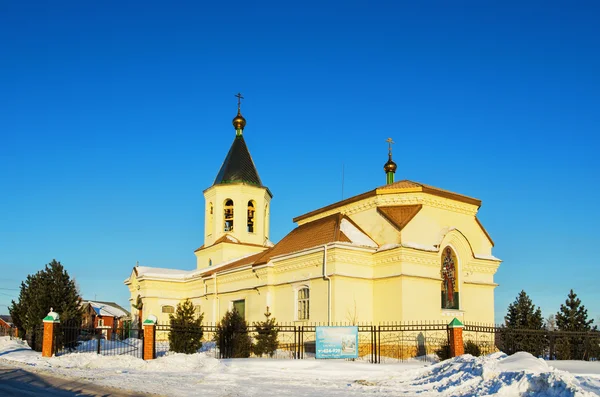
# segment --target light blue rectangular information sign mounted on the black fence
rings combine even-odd
[[[358,358],[358,327],[316,327],[317,358]]]

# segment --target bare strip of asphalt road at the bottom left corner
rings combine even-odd
[[[74,381],[25,371],[0,364],[0,396],[102,396],[134,397],[148,394],[128,393],[122,390],[99,387],[91,383]]]

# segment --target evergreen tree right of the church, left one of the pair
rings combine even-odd
[[[546,346],[542,310],[535,307],[525,291],[508,306],[501,347],[506,354],[526,351],[541,356]]]

